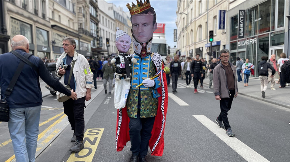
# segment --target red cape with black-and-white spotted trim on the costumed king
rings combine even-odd
[[[129,55],[131,57],[134,54]],[[158,53],[152,53],[151,59],[156,66],[157,71],[164,68],[162,65],[162,57]],[[162,67],[161,67],[162,65]],[[165,82],[164,82],[165,80]],[[158,109],[157,115],[155,117],[155,122],[152,129],[152,136],[149,141],[149,147],[151,149],[151,155],[153,156],[162,156],[164,149],[164,127],[166,121],[166,113],[168,106],[168,91],[167,91],[167,82],[166,74],[163,73],[163,79],[161,86],[157,89],[159,94],[162,94],[158,98]],[[118,118],[117,118],[117,129],[116,129],[116,150],[122,151],[126,143],[130,141],[129,136],[129,117],[127,114],[127,107],[118,109]]]

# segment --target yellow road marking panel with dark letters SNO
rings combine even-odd
[[[85,148],[80,152],[72,152],[66,162],[86,161],[91,162],[101,140],[104,128],[87,129],[84,134]]]

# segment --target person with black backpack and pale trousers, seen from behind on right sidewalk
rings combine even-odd
[[[258,73],[261,82],[262,97],[265,98],[265,92],[268,86],[268,69],[270,68],[272,70],[272,75],[270,76],[271,78],[275,75],[275,69],[267,62],[266,56],[262,56],[261,59],[262,61],[258,64]]]

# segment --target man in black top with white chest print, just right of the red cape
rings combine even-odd
[[[174,60],[170,63],[169,77],[172,77],[172,93],[176,93],[177,80],[178,77],[181,77],[181,65],[177,55],[174,56]]]

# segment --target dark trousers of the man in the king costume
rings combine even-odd
[[[151,131],[155,117],[140,118],[141,97],[138,94],[137,118],[131,118],[129,122],[129,135],[131,141],[131,151],[135,156],[144,158],[147,155]]]

